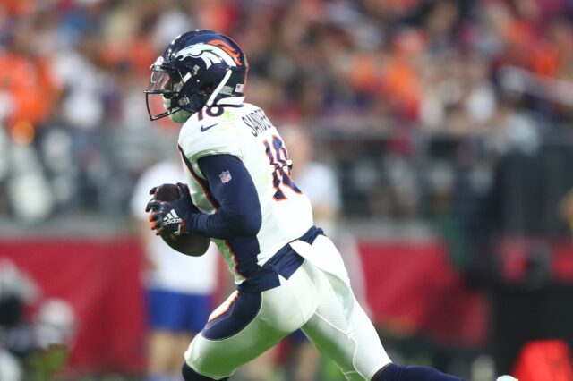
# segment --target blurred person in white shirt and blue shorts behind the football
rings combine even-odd
[[[143,207],[150,189],[159,183],[184,182],[181,163],[164,160],[151,165],[133,192],[132,211],[147,253],[146,284],[149,318],[148,380],[181,379],[181,353],[201,331],[211,309],[217,284],[216,249],[199,258],[187,258],[158,240],[148,227]]]

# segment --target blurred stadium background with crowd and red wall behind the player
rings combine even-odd
[[[335,172],[396,360],[573,379],[530,370],[573,343],[572,21],[570,0],[1,0],[0,368],[143,379],[129,200],[177,126],[142,91],[202,28],[237,40],[247,101]]]

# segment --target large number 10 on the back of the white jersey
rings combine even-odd
[[[290,177],[289,173],[292,162],[288,158],[283,140],[275,135],[272,137],[272,145],[269,144],[268,140],[263,141],[262,144],[265,146],[265,153],[267,157],[269,157],[270,165],[275,167],[275,171],[272,173],[272,184],[276,190],[273,198],[277,201],[287,199],[285,192],[281,189],[283,185],[294,190],[295,193],[302,193]]]

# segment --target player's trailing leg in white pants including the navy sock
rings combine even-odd
[[[338,250],[326,237],[317,238],[312,249],[322,256],[339,256]],[[334,258],[329,261],[334,262]],[[312,266],[312,263],[305,263],[303,267]],[[303,331],[321,353],[338,364],[346,379],[461,381],[458,377],[445,375],[433,368],[392,364],[370,318],[356,301],[349,285],[334,275],[337,271],[333,270],[322,270],[320,273],[321,288],[326,292],[321,292],[324,295],[321,304],[303,326]]]

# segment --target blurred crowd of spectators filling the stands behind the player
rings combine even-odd
[[[571,15],[568,0],[4,0],[0,214],[125,208],[176,131],[149,121],[150,63],[195,28],[244,48],[247,101],[276,123],[390,136],[384,171],[407,209],[415,152],[395,140],[485,137],[499,155],[566,130]],[[360,171],[345,176],[371,174]],[[428,181],[452,175],[438,168]],[[387,214],[384,195],[369,197],[366,215]]]

